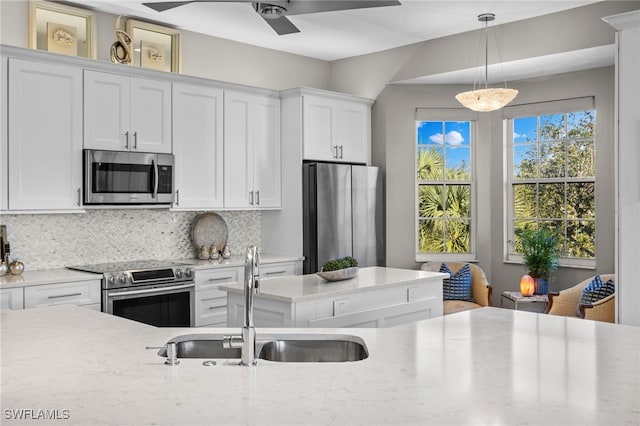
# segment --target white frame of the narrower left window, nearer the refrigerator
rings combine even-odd
[[[470,151],[470,180],[464,181],[447,181],[444,179],[441,181],[419,181],[417,173],[418,164],[418,123],[423,121],[440,121],[446,122],[469,122],[469,151]],[[416,119],[414,122],[414,138],[413,138],[413,180],[414,180],[414,251],[416,256],[416,262],[427,261],[461,261],[461,262],[475,262],[477,261],[477,182],[476,182],[476,147],[478,145],[478,115],[477,113],[469,112],[468,110],[460,109],[417,109]],[[443,144],[443,147],[445,145]],[[420,233],[420,185],[425,184],[442,184],[449,185],[469,185],[470,187],[470,203],[469,203],[469,221],[470,221],[470,241],[469,241],[469,253],[421,253],[419,251],[418,235]]]

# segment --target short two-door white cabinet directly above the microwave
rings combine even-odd
[[[171,82],[85,70],[84,147],[171,153]]]

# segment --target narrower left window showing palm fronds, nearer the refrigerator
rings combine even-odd
[[[474,260],[475,124],[417,120],[416,126],[416,260]]]

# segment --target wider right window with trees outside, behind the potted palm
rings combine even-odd
[[[547,228],[558,237],[561,264],[595,266],[596,114],[592,98],[575,103],[549,103],[548,112],[521,111],[506,122],[508,260],[520,259],[522,229]]]

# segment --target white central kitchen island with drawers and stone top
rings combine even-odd
[[[262,275],[262,274],[261,274]],[[257,327],[390,327],[442,315],[448,274],[384,267],[360,268],[343,281],[316,274],[261,280],[254,296]],[[244,286],[227,292],[227,325],[244,318]]]

